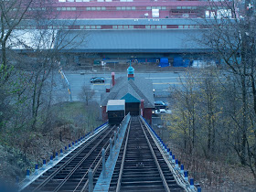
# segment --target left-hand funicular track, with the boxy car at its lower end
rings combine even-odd
[[[101,174],[101,149],[109,155],[109,139],[116,126],[109,126],[101,133],[63,158],[22,191],[80,191],[88,187],[88,170],[93,170],[94,180]],[[96,182],[96,181],[95,181]]]

